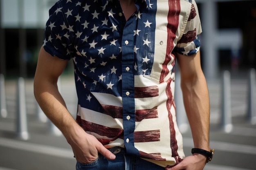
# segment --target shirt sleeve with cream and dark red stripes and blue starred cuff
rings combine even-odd
[[[177,42],[175,52],[182,55],[192,55],[197,53],[200,49],[200,40],[198,39],[200,33],[202,33],[201,21],[198,14],[198,7],[193,0],[189,19],[182,37]]]

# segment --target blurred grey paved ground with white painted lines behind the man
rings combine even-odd
[[[17,81],[7,80],[7,117],[0,117],[0,170],[74,170],[72,150],[62,135],[56,135],[49,122],[39,119],[40,112],[33,95],[33,79],[25,79],[26,113],[29,139],[17,137]],[[233,130],[222,130],[220,80],[208,80],[211,102],[211,147],[215,156],[205,170],[256,170],[256,125],[246,119],[247,77],[231,79],[231,113]],[[76,113],[74,81],[62,77],[61,93],[73,116]],[[185,131],[184,150],[190,155],[193,141],[190,131]]]

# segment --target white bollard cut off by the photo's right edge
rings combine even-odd
[[[256,71],[254,68],[252,68],[249,72],[248,119],[251,124],[256,124]]]

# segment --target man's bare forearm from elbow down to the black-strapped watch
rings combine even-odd
[[[209,93],[203,74],[182,81],[184,106],[195,148],[209,148]]]

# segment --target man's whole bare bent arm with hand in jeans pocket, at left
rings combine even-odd
[[[40,49],[34,77],[34,95],[45,115],[58,127],[71,145],[77,161],[90,163],[100,152],[107,159],[115,159],[94,136],[87,134],[67,110],[58,91],[58,77],[64,71],[67,60],[61,60]]]

